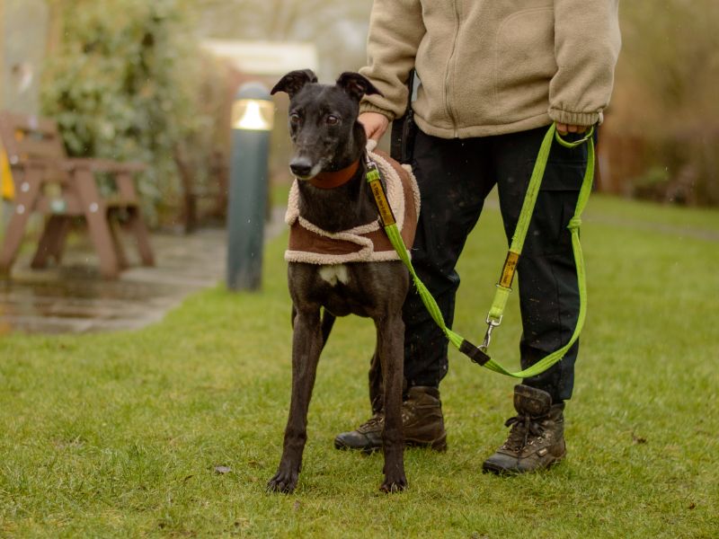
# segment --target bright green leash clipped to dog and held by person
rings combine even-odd
[[[577,140],[575,142],[567,142],[559,136],[559,133],[556,131],[555,124],[552,124],[547,130],[544,140],[542,141],[542,146],[539,147],[537,162],[534,165],[534,170],[532,171],[532,175],[529,179],[527,195],[525,196],[524,203],[522,204],[521,213],[519,214],[519,221],[517,222],[517,227],[514,231],[514,235],[512,236],[510,250],[509,252],[507,252],[507,258],[505,259],[504,265],[502,267],[502,276],[500,277],[500,282],[497,283],[497,291],[494,295],[494,300],[492,302],[492,306],[490,307],[489,314],[487,314],[487,331],[484,334],[484,342],[478,347],[472,344],[470,341],[466,340],[457,332],[452,331],[447,327],[447,324],[444,322],[444,318],[439,311],[439,306],[437,305],[437,302],[434,300],[434,297],[432,297],[427,287],[424,286],[422,280],[415,273],[412,261],[410,260],[409,252],[407,252],[407,248],[404,245],[402,236],[400,235],[399,229],[397,228],[395,216],[392,214],[392,209],[389,207],[389,204],[387,202],[385,190],[382,187],[379,171],[377,170],[377,164],[373,163],[368,158],[367,181],[375,197],[375,202],[377,203],[377,208],[379,210],[379,216],[382,219],[382,224],[385,227],[385,232],[387,234],[387,237],[389,238],[390,243],[392,243],[392,246],[395,248],[395,251],[399,255],[400,260],[404,262],[404,265],[407,267],[407,270],[409,270],[410,276],[412,277],[414,282],[414,286],[417,288],[417,292],[422,298],[422,303],[427,308],[427,311],[430,313],[434,322],[437,323],[437,325],[442,331],[444,331],[444,334],[447,336],[447,339],[449,340],[449,342],[452,343],[455,348],[457,348],[460,352],[465,354],[468,358],[470,358],[478,365],[493,370],[496,373],[501,373],[502,375],[506,376],[513,376],[515,378],[528,378],[531,376],[537,376],[538,374],[545,372],[546,369],[548,369],[549,367],[555,365],[557,361],[564,358],[564,354],[579,338],[581,328],[584,325],[584,318],[587,314],[586,274],[584,272],[584,258],[581,254],[581,244],[579,242],[579,227],[581,225],[581,212],[584,211],[584,208],[586,207],[587,202],[590,199],[591,183],[594,180],[594,140],[592,139],[593,133],[594,128],[590,128],[588,134],[585,137],[581,138],[581,140]],[[532,214],[534,213],[535,203],[537,202],[537,195],[539,194],[539,187],[541,186],[542,178],[545,175],[546,162],[549,158],[549,152],[552,148],[552,141],[554,139],[556,139],[556,141],[562,146],[568,148],[580,146],[585,142],[589,146],[589,151],[587,155],[587,170],[586,172],[584,172],[584,180],[581,182],[581,189],[579,191],[579,198],[577,199],[576,208],[574,209],[574,216],[570,219],[569,225],[567,226],[567,228],[569,228],[570,232],[572,233],[574,264],[577,269],[577,283],[579,285],[580,300],[579,316],[577,318],[577,325],[574,328],[572,338],[561,349],[555,350],[554,352],[546,356],[546,358],[540,359],[533,366],[513,373],[502,367],[492,358],[490,358],[487,355],[486,351],[489,348],[490,341],[492,340],[492,332],[494,328],[496,328],[502,323],[504,307],[507,305],[507,300],[510,296],[511,283],[514,279],[514,273],[517,269],[517,263],[519,262],[519,256],[522,252],[524,240],[527,237],[529,223],[531,221]]]

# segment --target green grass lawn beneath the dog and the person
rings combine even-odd
[[[566,461],[483,474],[515,382],[453,353],[448,452],[408,450],[410,489],[392,496],[380,455],[333,449],[368,417],[359,318],[320,362],[296,493],[264,491],[288,411],[285,242],[262,293],[208,290],[143,331],[0,337],[0,536],[719,536],[719,212],[593,198]],[[456,329],[473,340],[505,248],[490,205],[460,268]],[[518,338],[513,297],[493,357],[517,367]]]

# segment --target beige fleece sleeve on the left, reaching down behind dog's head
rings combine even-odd
[[[361,112],[379,112],[390,121],[404,114],[405,84],[424,33],[420,0],[375,0],[369,16],[368,65],[359,73],[382,95],[366,96]]]

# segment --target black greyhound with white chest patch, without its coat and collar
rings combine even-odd
[[[289,129],[295,146],[289,168],[298,180],[299,214],[328,232],[340,232],[377,219],[377,207],[365,181],[367,137],[357,120],[359,100],[379,93],[358,73],[343,73],[336,84],[317,84],[312,71],[292,71],[271,93],[289,95]],[[349,172],[348,172],[349,171]],[[337,187],[317,187],[324,174],[349,175]],[[291,492],[297,486],[306,443],[307,408],[320,352],[334,316],[370,317],[377,328],[373,366],[381,366],[385,423],[382,432],[385,481],[381,490],[404,490],[402,386],[404,323],[402,305],[409,287],[400,261],[342,265],[289,262],[292,297],[292,398],[282,458],[268,490]],[[324,314],[321,314],[324,310]],[[370,375],[371,384],[371,375]],[[377,389],[375,389],[377,391]]]

